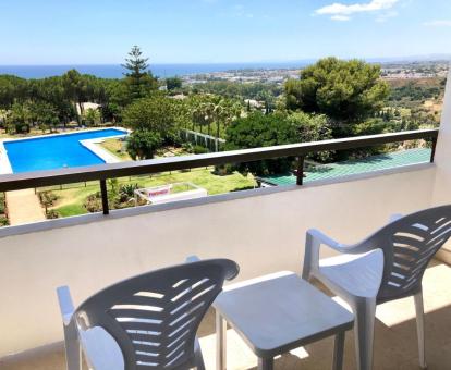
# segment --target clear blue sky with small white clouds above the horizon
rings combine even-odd
[[[2,0],[0,64],[451,53],[450,0]]]

